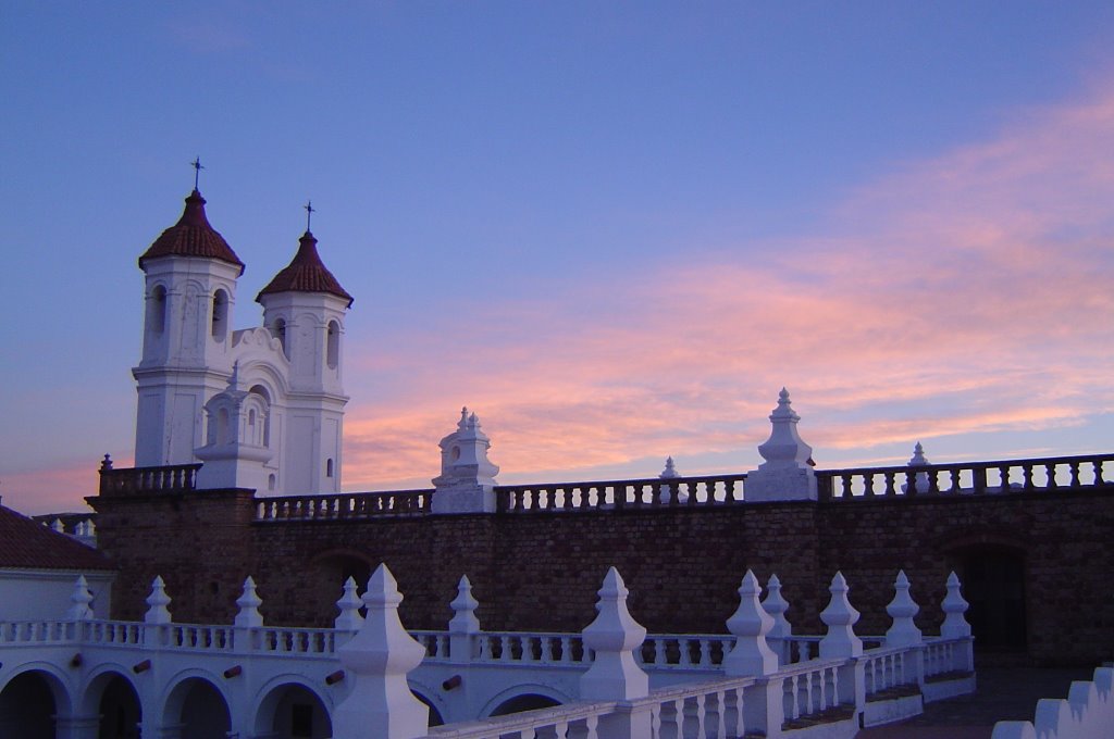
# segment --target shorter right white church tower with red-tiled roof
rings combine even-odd
[[[297,254],[260,290],[263,325],[290,362],[282,445],[283,490],[340,492],[344,404],[344,313],[349,295],[321,263],[317,239],[299,240]]]

